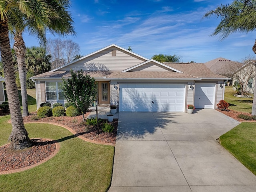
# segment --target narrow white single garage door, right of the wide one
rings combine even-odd
[[[216,83],[196,83],[194,104],[197,109],[214,108]]]

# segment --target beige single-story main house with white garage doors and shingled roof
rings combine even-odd
[[[201,63],[160,63],[112,44],[32,77],[38,108],[65,102],[62,78],[70,78],[70,69],[94,77],[98,104],[118,104],[120,112],[186,112],[187,104],[216,108],[228,79]]]

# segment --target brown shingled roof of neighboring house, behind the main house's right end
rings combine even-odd
[[[232,78],[232,74],[244,64],[222,57],[204,63],[212,72]]]

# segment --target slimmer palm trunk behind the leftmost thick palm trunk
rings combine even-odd
[[[27,71],[25,63],[26,46],[22,38],[22,32],[15,32],[14,34],[14,45],[13,48],[16,52],[18,71],[20,77],[20,87],[21,87],[21,99],[22,99],[22,116],[28,116],[28,95],[27,95]]]

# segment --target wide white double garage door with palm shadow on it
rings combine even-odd
[[[120,84],[120,111],[183,112],[185,84]]]

